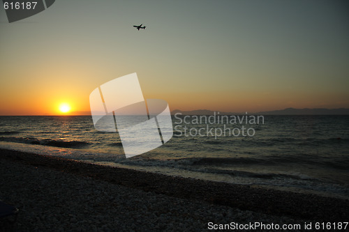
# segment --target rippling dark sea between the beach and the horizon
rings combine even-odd
[[[126,158],[91,116],[0,116],[0,148],[349,199],[349,116],[172,116],[168,142]]]

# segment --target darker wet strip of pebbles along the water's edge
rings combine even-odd
[[[325,222],[343,222],[348,219],[349,201],[346,199],[165,176],[159,173],[106,167],[15,150],[0,149],[0,160],[38,169],[53,169],[71,173],[75,176],[102,180],[143,192],[203,201],[217,206],[228,206],[269,215]]]

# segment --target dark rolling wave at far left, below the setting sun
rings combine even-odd
[[[64,141],[54,139],[36,139],[33,137],[0,137],[0,141],[10,141],[21,144],[36,144],[45,146],[56,146],[59,148],[83,148],[91,143],[85,141]]]

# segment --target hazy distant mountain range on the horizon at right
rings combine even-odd
[[[175,109],[171,111],[171,114],[181,113],[183,115],[212,115],[215,111],[207,109],[198,109],[192,111],[181,111]],[[218,111],[216,111],[217,114]],[[219,115],[239,115],[246,114],[245,112],[221,112]],[[295,108],[286,108],[273,111],[261,111],[261,112],[248,112],[248,114],[257,114],[257,115],[349,115],[349,109],[339,108],[339,109],[325,109],[325,108],[316,108],[316,109],[295,109]]]

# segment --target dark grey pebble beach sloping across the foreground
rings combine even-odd
[[[2,231],[211,231],[210,222],[304,224],[349,217],[346,199],[14,150],[0,150],[0,176],[1,201],[20,210],[14,224],[1,219]]]

